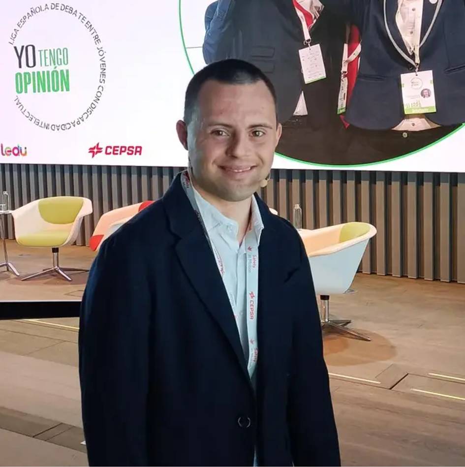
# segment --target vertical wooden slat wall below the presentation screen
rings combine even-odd
[[[45,196],[93,202],[78,245],[105,212],[159,198],[180,171],[172,167],[0,164],[0,194],[18,208]],[[371,222],[378,234],[360,265],[366,274],[465,283],[465,174],[273,170],[262,197],[292,220],[300,204],[305,228]],[[11,218],[9,238],[14,238]]]

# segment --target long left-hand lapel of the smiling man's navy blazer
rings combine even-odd
[[[250,382],[226,289],[202,226],[181,186],[180,175],[163,196],[163,205],[173,233],[180,237],[175,249],[186,276],[231,345],[243,373]]]

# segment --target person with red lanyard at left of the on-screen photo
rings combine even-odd
[[[338,115],[346,25],[319,0],[219,0],[205,13],[207,63],[237,58],[258,66],[278,95],[283,125],[277,151],[323,164],[341,163],[349,144]],[[326,78],[304,81],[299,50],[318,46]]]

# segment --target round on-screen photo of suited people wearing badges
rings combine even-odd
[[[279,154],[373,163],[422,149],[465,122],[463,2],[218,0],[204,8],[204,62],[246,60],[273,82]],[[310,47],[324,77],[306,82],[300,56]],[[415,71],[433,72],[432,85],[419,90],[422,99],[434,94],[433,113],[404,112],[401,75]]]

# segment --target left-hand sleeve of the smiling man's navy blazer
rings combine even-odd
[[[90,466],[150,465],[150,297],[133,257],[118,233],[105,241],[82,300],[79,376]]]

